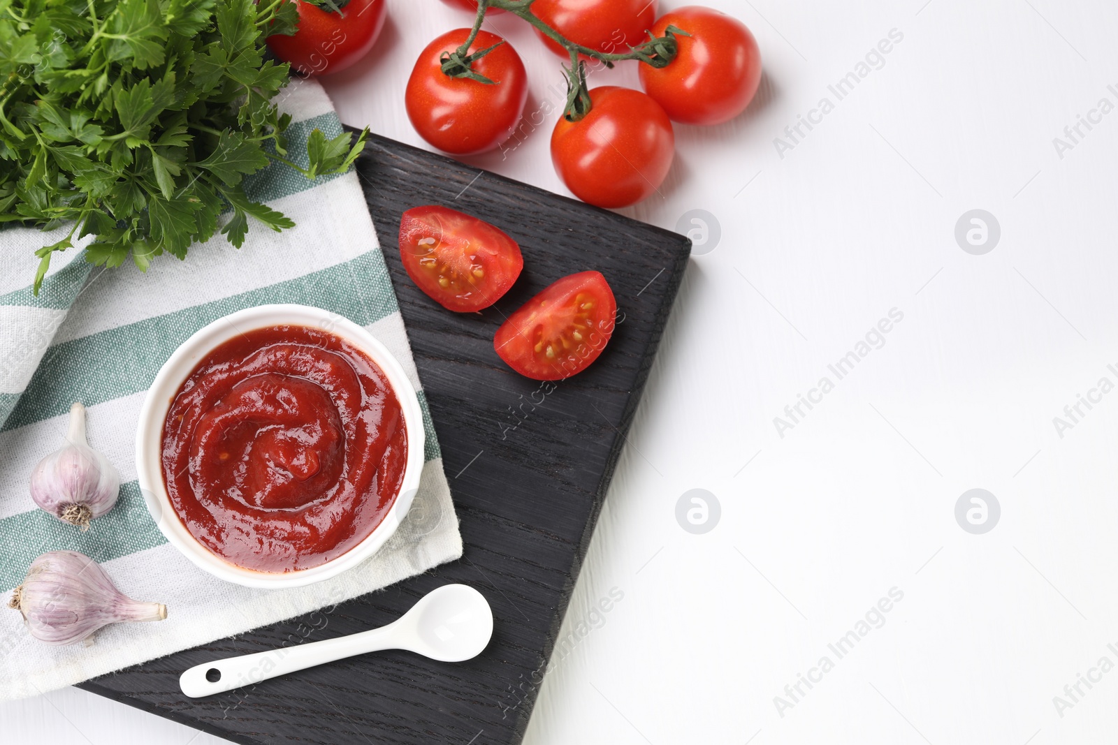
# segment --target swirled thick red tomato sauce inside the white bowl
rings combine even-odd
[[[334,334],[273,326],[221,344],[163,423],[179,518],[226,561],[319,566],[380,524],[407,462],[400,403],[380,367]]]

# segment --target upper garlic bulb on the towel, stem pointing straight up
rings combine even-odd
[[[89,520],[116,504],[121,477],[113,464],[85,439],[85,407],[70,407],[67,445],[53,452],[31,472],[31,499],[60,520],[83,531]]]

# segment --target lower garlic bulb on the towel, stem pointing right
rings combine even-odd
[[[76,551],[51,551],[31,562],[8,605],[48,644],[73,644],[110,623],[167,618],[167,605],[121,594],[95,561]]]

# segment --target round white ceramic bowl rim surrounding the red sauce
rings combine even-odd
[[[297,325],[328,331],[364,352],[388,378],[404,412],[407,427],[408,459],[404,468],[404,480],[396,500],[385,519],[361,543],[348,552],[319,566],[285,573],[257,572],[237,566],[210,552],[190,534],[176,513],[163,481],[163,465],[160,457],[163,420],[179,388],[195,366],[214,347],[235,336],[268,326]],[[260,305],[218,318],[200,328],[182,343],[155,375],[143,408],[136,430],[136,471],[140,488],[148,510],[167,536],[167,539],[182,554],[216,577],[249,588],[297,588],[332,577],[371,556],[385,545],[397,526],[408,514],[411,499],[419,488],[423,471],[424,426],[423,412],[415,388],[404,367],[373,336],[356,323],[334,313],[305,305]]]

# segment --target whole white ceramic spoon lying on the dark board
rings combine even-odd
[[[442,662],[481,655],[493,636],[493,611],[482,593],[464,584],[433,590],[388,625],[297,647],[196,665],[179,678],[191,698],[212,696],[260,680],[354,655],[406,649]]]

